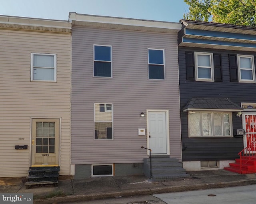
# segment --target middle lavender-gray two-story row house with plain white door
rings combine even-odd
[[[76,13],[69,20],[74,177],[146,174],[150,151],[142,146],[181,162],[181,24]]]

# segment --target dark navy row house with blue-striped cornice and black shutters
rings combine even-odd
[[[187,171],[223,169],[244,148],[245,153],[255,152],[256,29],[189,20],[181,23],[183,165]]]

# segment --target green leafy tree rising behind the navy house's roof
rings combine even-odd
[[[256,0],[184,0],[188,20],[256,26]]]

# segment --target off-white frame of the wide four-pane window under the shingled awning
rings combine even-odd
[[[188,112],[188,137],[201,137],[201,138],[205,138],[205,137],[233,137],[233,131],[232,131],[232,112],[222,112],[222,111],[196,111],[196,113],[199,113],[199,123],[200,123],[200,135],[190,135],[190,120],[189,120],[189,115],[190,114],[194,114],[194,113],[189,113]],[[212,129],[212,135],[208,135],[208,136],[203,136],[203,130],[202,130],[202,114],[203,113],[210,113],[211,114],[211,118],[212,118],[212,125],[211,125],[211,129]],[[223,135],[215,135],[214,133],[214,114],[216,113],[221,113],[222,114],[222,134]],[[230,116],[230,121],[229,121],[229,128],[230,128],[230,135],[224,135],[224,116],[223,114],[229,114]]]

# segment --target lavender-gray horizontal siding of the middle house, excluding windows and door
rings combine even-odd
[[[93,77],[93,44],[112,45],[112,78]],[[166,80],[148,80],[148,48],[165,49]],[[113,140],[94,140],[94,103],[113,104]],[[72,27],[72,164],[140,163],[146,109],[170,112],[170,155],[181,160],[177,35]]]

